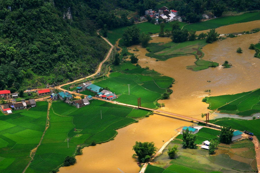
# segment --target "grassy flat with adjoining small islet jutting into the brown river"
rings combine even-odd
[[[150,43],[148,47],[151,52],[147,53],[146,56],[165,61],[169,58],[193,54],[198,60],[195,62],[196,65],[187,66],[187,69],[198,71],[209,67],[217,67],[218,63],[200,59],[204,56],[204,53],[200,49],[206,44],[205,40],[186,41],[182,43],[170,42],[166,44]]]

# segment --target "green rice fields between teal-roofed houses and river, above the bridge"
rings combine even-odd
[[[154,102],[161,97],[162,93],[169,90],[167,88],[174,81],[173,78],[159,76],[161,74],[136,67],[130,62],[121,63],[112,68],[116,72],[111,73],[109,78],[94,84],[103,88],[108,87],[111,92],[118,95],[116,101],[135,106],[138,105],[137,99],[141,97],[142,106],[155,108]],[[130,84],[130,95],[128,94],[127,84]],[[83,91],[81,94],[93,95],[90,91]]]

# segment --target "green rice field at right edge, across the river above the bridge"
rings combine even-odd
[[[219,110],[220,113],[251,116],[260,112],[260,89],[234,95],[209,97],[209,109]]]

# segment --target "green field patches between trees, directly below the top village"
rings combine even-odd
[[[171,31],[172,24],[173,24],[173,22],[166,23],[164,30],[169,29]],[[186,25],[186,23],[184,23],[184,22],[179,22],[179,24],[180,24],[180,28],[182,28],[184,25]],[[143,22],[143,23],[134,24],[134,25],[137,25],[137,27],[140,27],[141,33],[144,32],[145,34],[148,34],[148,32],[152,32],[152,33],[160,32],[160,25],[154,25],[150,22]],[[127,29],[127,27],[109,30],[107,33],[107,38],[108,38],[109,42],[111,42],[112,44],[116,44],[116,40],[118,40],[119,38],[122,37],[123,33],[125,32],[124,31],[125,29]]]

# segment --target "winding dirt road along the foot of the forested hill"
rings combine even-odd
[[[97,33],[98,33],[98,35],[100,35],[99,32],[97,32]],[[101,35],[100,35],[100,36],[101,36]],[[109,58],[109,56],[110,56],[110,54],[111,54],[111,52],[112,52],[112,50],[113,50],[113,48],[114,48],[113,44],[111,44],[106,38],[104,38],[103,36],[101,36],[101,37],[111,46],[111,48],[110,48],[109,52],[107,53],[106,58],[99,64],[99,68],[97,69],[96,73],[94,73],[94,74],[92,74],[92,75],[90,75],[90,76],[86,76],[85,78],[90,78],[90,77],[95,76],[96,74],[98,74],[98,72],[100,72],[103,63],[104,63],[105,61],[107,61],[107,59]],[[73,82],[68,82],[68,83],[66,83],[66,84],[62,84],[62,85],[59,85],[59,86],[55,86],[55,88],[56,88],[56,89],[60,89],[60,90],[62,90],[62,91],[66,91],[66,89],[62,89],[61,87],[64,86],[64,85],[72,84],[72,83],[74,83],[74,82],[79,82],[79,81],[81,81],[81,80],[83,80],[83,79],[85,79],[85,78],[81,78],[81,79],[78,79],[78,80],[74,80]],[[70,93],[77,94],[77,95],[82,95],[82,94],[79,94],[79,93],[76,93],[76,92],[72,92],[72,91],[71,91]]]

